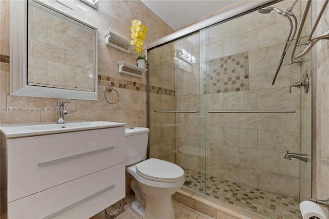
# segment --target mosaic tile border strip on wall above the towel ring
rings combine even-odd
[[[123,79],[118,79],[118,78],[108,77],[103,75],[98,75],[98,84],[104,86],[119,87],[123,89],[139,90],[142,92],[146,92],[146,87],[147,87],[146,84],[143,83],[123,80]]]

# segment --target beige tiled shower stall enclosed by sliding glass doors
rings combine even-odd
[[[312,81],[312,60],[290,62],[291,25],[279,13],[293,2],[148,49],[149,156],[184,169],[184,188],[270,218],[298,218],[312,192],[312,86],[290,87]],[[303,4],[292,11],[298,21]],[[258,11],[266,6],[280,11]],[[303,34],[310,28],[309,17]]]

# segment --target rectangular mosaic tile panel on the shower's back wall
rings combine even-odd
[[[248,52],[213,59],[207,65],[207,94],[249,90]]]

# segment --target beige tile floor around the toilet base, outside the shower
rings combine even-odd
[[[130,205],[133,202],[134,198],[135,198],[134,193],[126,195],[123,211],[116,217],[117,219],[140,219],[140,217],[137,216],[130,208]],[[212,218],[196,210],[193,210],[187,206],[177,203],[175,201],[173,201],[173,203],[174,203],[176,219],[211,219]],[[108,209],[107,212],[114,214],[118,208],[119,208],[119,204],[116,203],[115,205],[107,208]],[[90,219],[106,219],[104,210],[94,215]]]

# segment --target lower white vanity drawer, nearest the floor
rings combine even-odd
[[[8,218],[89,218],[125,196],[125,165],[69,181],[8,204]]]

